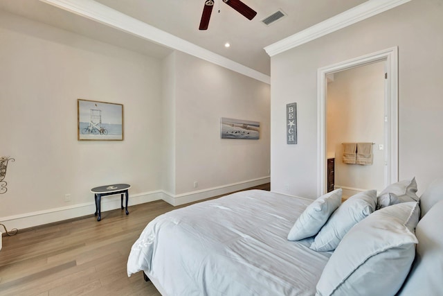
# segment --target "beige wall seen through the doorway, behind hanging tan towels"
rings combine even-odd
[[[327,155],[335,154],[335,185],[383,190],[384,62],[338,73],[327,85]],[[372,165],[343,164],[346,142],[373,142]]]

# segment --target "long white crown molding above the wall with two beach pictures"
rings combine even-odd
[[[75,15],[80,15],[82,17],[86,17],[87,19],[98,21],[100,24],[105,24],[106,26],[116,28],[120,31],[136,35],[138,37],[143,38],[144,40],[148,40],[150,42],[160,44],[170,49],[181,51],[183,53],[188,53],[189,55],[201,58],[202,60],[206,60],[213,64],[217,64],[221,67],[224,67],[226,69],[230,69],[237,73],[241,73],[244,76],[254,78],[256,80],[262,81],[267,84],[271,83],[271,77],[267,76],[264,73],[246,67],[242,64],[239,64],[238,62],[234,62],[233,60],[229,60],[228,58],[218,55],[217,53],[213,53],[212,51],[208,51],[207,49],[204,49],[191,42],[183,40],[170,33],[161,31],[160,29],[155,28],[154,26],[150,26],[149,24],[146,24],[143,21],[139,21],[138,19],[129,17],[128,15],[125,15],[122,12],[118,12],[117,10],[109,8],[108,6],[105,6],[96,1],[93,0],[39,0],[39,1],[48,3],[52,6],[61,8],[63,10],[67,10],[69,12],[73,12],[75,13]]]

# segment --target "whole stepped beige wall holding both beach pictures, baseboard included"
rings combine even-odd
[[[0,195],[8,228],[92,214],[90,189],[104,184],[131,184],[132,205],[269,182],[269,85],[183,53],[162,61],[6,12],[0,44],[0,156],[16,159]],[[78,141],[78,98],[122,103],[125,140]],[[221,142],[220,116],[260,121],[262,139]],[[119,196],[102,200],[103,211],[118,207]]]

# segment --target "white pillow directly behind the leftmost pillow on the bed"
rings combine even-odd
[[[309,248],[318,252],[334,251],[352,226],[369,216],[377,207],[377,191],[352,195],[332,214]]]

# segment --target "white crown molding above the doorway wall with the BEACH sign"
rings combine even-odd
[[[369,0],[361,3],[359,6],[346,10],[334,17],[326,19],[314,26],[311,26],[299,33],[291,35],[283,40],[266,46],[264,50],[269,56],[277,55],[289,49],[293,49],[299,45],[325,36],[329,33],[340,30],[363,19],[368,19],[381,12],[390,10],[407,3],[411,0]]]

